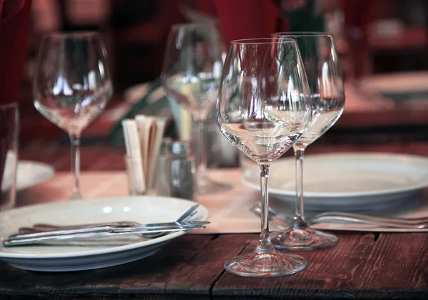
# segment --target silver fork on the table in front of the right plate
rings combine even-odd
[[[255,203],[251,207],[250,212],[260,216],[261,206],[260,203]],[[278,227],[289,227],[292,220],[290,217],[280,214],[269,207],[269,219],[272,224]],[[415,219],[402,219],[402,218],[386,218],[386,217],[374,217],[367,214],[356,214],[352,212],[322,212],[315,214],[308,224],[320,223],[323,221],[346,221],[356,222],[361,224],[371,224],[379,227],[394,227],[402,229],[424,229],[428,228],[428,217],[415,218]]]

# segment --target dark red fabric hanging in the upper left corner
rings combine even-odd
[[[0,16],[0,103],[10,103],[19,95],[31,0],[0,0]]]

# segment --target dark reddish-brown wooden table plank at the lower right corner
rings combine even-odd
[[[213,299],[428,299],[427,234],[338,236],[330,249],[295,252],[308,262],[297,274],[253,279],[224,273],[213,287]],[[243,253],[253,251],[257,242]]]

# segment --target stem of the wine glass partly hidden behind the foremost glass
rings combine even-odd
[[[294,227],[304,227],[305,221],[305,209],[303,207],[303,157],[305,156],[305,146],[293,147],[296,157],[296,205],[295,205],[295,217]]]

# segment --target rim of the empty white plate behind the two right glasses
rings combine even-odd
[[[319,154],[313,154],[313,155],[307,155],[306,157],[332,157],[332,156],[354,156],[354,157],[394,157],[395,159],[401,157],[406,159],[412,159],[412,160],[420,160],[424,161],[427,164],[428,167],[428,158],[421,156],[421,155],[407,155],[407,154],[400,154],[400,153],[388,153],[388,152],[330,152],[330,153],[319,153]],[[287,157],[283,160],[292,160],[294,161],[294,157]],[[251,182],[246,178],[245,174],[248,173],[250,170],[254,170],[255,167],[248,168],[248,170],[245,170],[243,174],[240,176],[240,180],[243,183],[243,185],[246,185],[253,190],[259,190],[260,191],[260,184],[256,184],[255,182]],[[428,172],[428,168],[427,168]],[[419,185],[412,185],[407,188],[396,188],[396,189],[387,189],[387,190],[377,190],[372,192],[305,192],[305,197],[312,197],[312,198],[340,198],[340,197],[368,197],[368,196],[379,196],[379,195],[388,195],[388,194],[395,194],[399,192],[412,192],[416,190],[422,190],[425,187],[428,187],[428,177],[426,180],[421,182]],[[295,190],[284,190],[280,188],[275,187],[269,187],[268,192],[272,195],[282,195],[282,196],[295,196]]]

